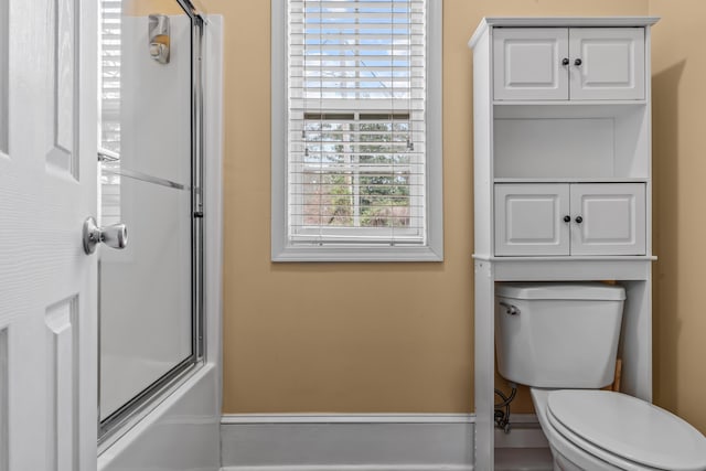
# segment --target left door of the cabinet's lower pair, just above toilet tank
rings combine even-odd
[[[495,185],[495,255],[568,255],[569,185]]]

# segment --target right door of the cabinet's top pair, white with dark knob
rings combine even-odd
[[[569,30],[571,99],[644,99],[644,29]]]

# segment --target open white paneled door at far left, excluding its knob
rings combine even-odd
[[[96,468],[96,6],[0,2],[0,470]]]

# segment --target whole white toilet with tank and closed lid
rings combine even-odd
[[[555,470],[706,470],[706,438],[612,383],[625,293],[605,283],[499,283],[500,374],[531,387]]]

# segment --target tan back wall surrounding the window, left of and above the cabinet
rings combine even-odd
[[[225,413],[473,408],[471,51],[483,15],[648,13],[646,0],[445,1],[442,264],[269,261],[269,1],[225,17]]]

